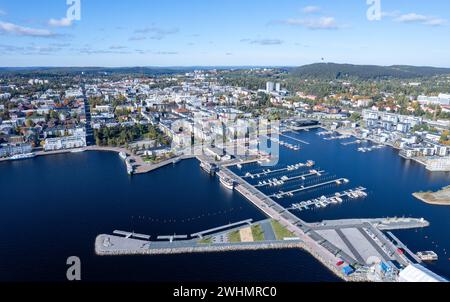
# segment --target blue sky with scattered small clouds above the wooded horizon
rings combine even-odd
[[[0,66],[450,67],[450,2],[0,0]]]

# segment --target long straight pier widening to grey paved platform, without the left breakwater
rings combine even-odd
[[[407,266],[413,261],[397,253],[381,230],[428,227],[424,219],[383,218],[347,219],[309,224],[290,213],[228,168],[222,167],[219,177],[235,181],[235,190],[246,197],[268,217],[278,221],[302,241],[302,248],[346,281],[367,281],[363,274],[345,275],[336,264],[344,261],[355,268],[369,265],[370,259],[393,260]],[[401,246],[401,243],[399,243]]]

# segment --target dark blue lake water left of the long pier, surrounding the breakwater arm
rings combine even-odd
[[[0,164],[0,190],[0,281],[64,281],[69,256],[84,281],[337,281],[299,250],[95,255],[116,229],[155,238],[264,218],[196,160],[130,178],[114,153],[40,157]]]

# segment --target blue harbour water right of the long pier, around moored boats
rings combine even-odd
[[[293,145],[300,145],[300,151],[293,151],[281,147],[280,161],[277,167],[314,160],[314,169],[325,170],[321,176],[322,182],[330,177],[347,178],[350,182],[343,186],[330,186],[327,188],[299,193],[293,197],[285,197],[281,200],[275,198],[281,205],[288,207],[293,203],[317,198],[323,195],[332,195],[335,192],[363,186],[369,194],[366,199],[350,200],[343,204],[330,205],[325,209],[312,209],[310,211],[294,211],[301,219],[308,222],[317,222],[330,219],[346,218],[381,218],[381,217],[415,217],[425,218],[431,226],[420,230],[407,230],[394,232],[412,251],[433,250],[439,255],[439,261],[428,265],[436,273],[446,278],[450,277],[450,207],[434,206],[416,200],[412,194],[419,191],[438,190],[450,184],[450,173],[431,173],[424,166],[398,155],[393,148],[383,148],[368,153],[358,152],[359,145],[347,145],[342,143],[352,142],[347,140],[324,140],[317,135],[321,130],[309,132],[288,133],[291,138],[297,138],[309,142],[309,145],[298,141],[280,137],[280,140]],[[367,146],[371,146],[367,143]],[[364,146],[364,145],[362,145]],[[272,167],[274,170],[277,167]],[[246,172],[257,172],[264,169],[257,164],[250,164],[242,170],[233,168],[234,172],[244,175]],[[305,168],[309,170],[311,168]],[[291,174],[302,174],[290,172]],[[278,179],[289,173],[278,173]],[[267,178],[276,176],[271,175]],[[262,178],[263,180],[264,178]],[[251,180],[254,184],[258,180]],[[266,194],[274,194],[281,189],[288,192],[301,186],[302,181],[289,182],[282,188],[264,188]],[[312,184],[315,184],[314,182]],[[306,181],[308,185],[308,181]]]

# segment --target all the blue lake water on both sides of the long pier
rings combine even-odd
[[[436,251],[440,260],[430,268],[450,277],[450,207],[427,205],[411,195],[449,185],[449,173],[430,173],[391,148],[360,153],[357,145],[325,141],[317,131],[289,135],[310,144],[281,137],[300,144],[301,150],[282,147],[280,167],[314,160],[316,168],[327,172],[325,179],[337,176],[350,183],[296,194],[280,200],[282,205],[364,186],[366,199],[294,213],[307,221],[423,217],[431,222],[429,228],[395,234],[413,251]],[[242,174],[261,167],[234,170]],[[95,237],[116,229],[154,238],[264,218],[238,193],[206,175],[196,160],[130,178],[114,153],[41,157],[0,164],[0,190],[0,281],[63,281],[69,256],[81,258],[86,281],[337,281],[314,258],[296,250],[95,256]]]

